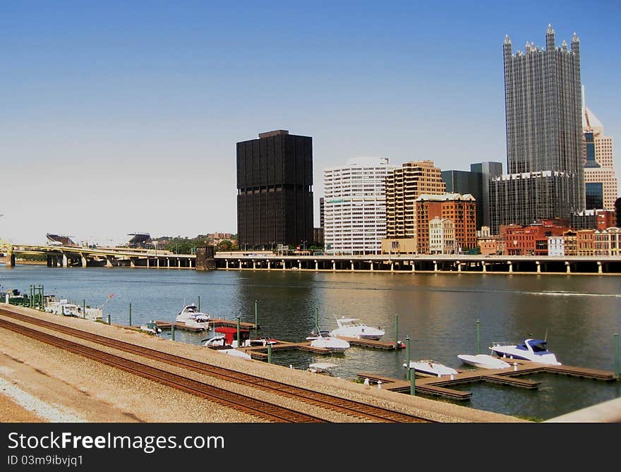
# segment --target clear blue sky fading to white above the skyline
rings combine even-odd
[[[236,232],[235,143],[273,129],[313,137],[317,202],[350,157],[506,170],[502,41],[542,47],[548,23],[577,32],[619,140],[620,20],[607,1],[3,2],[0,237]]]

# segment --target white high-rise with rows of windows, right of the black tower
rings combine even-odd
[[[327,253],[379,254],[386,236],[385,158],[348,159],[323,171]]]

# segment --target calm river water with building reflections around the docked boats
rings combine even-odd
[[[380,326],[392,341],[406,337],[411,359],[433,358],[468,369],[457,358],[476,353],[477,329],[482,353],[492,341],[547,339],[548,349],[566,365],[615,370],[615,338],[621,332],[621,277],[609,275],[400,274],[306,271],[147,270],[124,267],[49,268],[0,266],[0,289],[28,293],[42,284],[45,294],[92,307],[104,304],[104,318],[127,325],[173,321],[186,303],[198,303],[213,317],[254,322],[260,335],[303,341],[315,326],[337,327],[334,316],[358,317]],[[109,297],[112,295],[112,297]],[[169,332],[162,335],[169,337]],[[199,344],[207,334],[175,333],[175,340]],[[385,351],[357,346],[344,354],[275,352],[272,362],[304,369],[308,363],[338,364],[337,375],[358,373],[405,379],[405,349]],[[620,396],[620,382],[528,375],[535,390],[486,382],[459,385],[472,392],[465,406],[545,420]],[[448,401],[448,400],[442,400]]]

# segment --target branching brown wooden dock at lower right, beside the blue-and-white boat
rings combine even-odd
[[[548,365],[522,361],[521,359],[512,359],[511,361],[513,366],[510,369],[458,370],[457,375],[443,375],[442,377],[416,373],[416,379],[414,380],[415,389],[416,392],[421,394],[466,401],[472,397],[472,392],[451,389],[449,386],[472,382],[490,382],[507,385],[508,387],[533,390],[538,389],[541,382],[519,377],[536,373],[554,373],[604,382],[617,380],[615,373],[609,370],[591,369],[574,365]],[[411,388],[409,380],[394,379],[373,373],[360,373],[357,377],[358,379],[368,379],[369,382],[375,384],[382,382],[382,388],[392,392],[409,393]]]

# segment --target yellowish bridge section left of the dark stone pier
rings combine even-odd
[[[169,250],[140,248],[89,248],[88,246],[32,246],[0,239],[0,253],[7,266],[16,265],[16,255],[46,255],[47,267],[147,267],[195,269],[196,255]],[[0,258],[0,261],[2,258]]]

